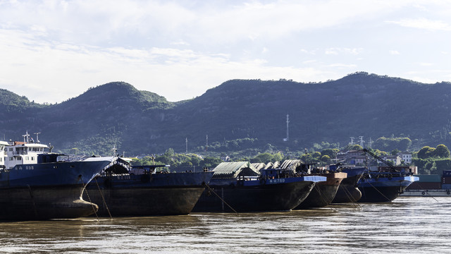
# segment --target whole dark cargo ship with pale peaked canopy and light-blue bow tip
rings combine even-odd
[[[287,169],[255,169],[249,162],[223,162],[193,212],[286,211],[297,207],[324,176]]]

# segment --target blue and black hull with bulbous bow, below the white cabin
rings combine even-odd
[[[0,220],[85,217],[97,205],[82,200],[85,186],[110,160],[18,165],[0,171]]]

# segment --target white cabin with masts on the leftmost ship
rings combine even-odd
[[[37,164],[38,155],[44,153],[48,145],[35,143],[32,139],[28,139],[28,133],[24,135],[24,142],[14,141],[6,143],[4,147],[4,166],[6,169],[12,169],[16,165]]]

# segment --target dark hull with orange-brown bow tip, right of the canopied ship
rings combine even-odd
[[[327,181],[316,183],[316,186],[313,190],[311,190],[311,193],[307,196],[307,198],[295,209],[325,207],[326,205],[329,205],[333,198],[335,198],[338,187],[347,174],[328,173],[319,174],[319,176],[326,176]]]

